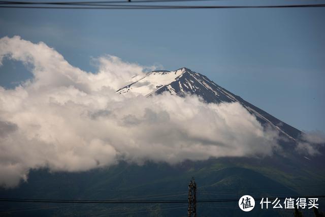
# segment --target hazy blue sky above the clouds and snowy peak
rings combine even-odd
[[[210,3],[216,4],[216,3]],[[0,37],[45,42],[70,64],[116,55],[187,67],[300,130],[325,132],[325,8],[231,10],[0,9]],[[31,74],[4,61],[0,85]]]

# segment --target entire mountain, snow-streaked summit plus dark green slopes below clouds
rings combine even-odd
[[[304,158],[293,151],[301,132],[239,96],[217,85],[206,76],[186,68],[153,71],[117,90],[118,94],[151,97],[170,92],[200,96],[207,103],[238,102],[262,124],[269,124],[284,137],[279,141],[283,153],[265,158],[227,157],[207,161],[185,161],[176,165],[145,162],[143,165],[119,162],[117,165],[87,172],[31,170],[27,182],[16,189],[1,189],[5,198],[80,200],[186,200],[192,176],[198,186],[198,200],[235,199],[243,195],[261,197],[299,197],[325,194],[323,155]],[[321,153],[325,153],[322,149]],[[283,200],[281,201],[283,203]],[[325,210],[319,199],[319,209]],[[283,204],[282,204],[283,205]],[[0,216],[186,216],[187,204],[20,204],[1,203]],[[288,209],[244,213],[236,202],[198,204],[198,216],[293,216]],[[311,210],[303,210],[313,216]]]

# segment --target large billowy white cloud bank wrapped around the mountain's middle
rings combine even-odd
[[[0,87],[0,185],[26,180],[30,169],[85,171],[118,161],[177,164],[186,159],[270,156],[278,134],[238,103],[198,97],[118,95],[146,67],[115,56],[96,59],[98,72],[71,66],[46,44],[0,39],[4,58],[22,61],[34,77]]]

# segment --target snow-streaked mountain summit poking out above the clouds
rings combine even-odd
[[[222,88],[206,76],[187,68],[176,71],[153,71],[145,77],[117,90],[118,94],[141,94],[150,97],[154,94],[170,92],[180,97],[185,94],[200,96],[207,103],[238,102],[263,125],[268,124],[279,131],[281,136],[296,141],[301,131],[289,126],[271,114],[248,103],[239,96]]]

